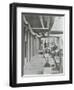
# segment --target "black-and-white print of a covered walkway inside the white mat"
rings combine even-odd
[[[22,76],[63,74],[64,15],[22,13]]]

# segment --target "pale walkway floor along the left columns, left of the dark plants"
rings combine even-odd
[[[45,59],[42,55],[35,55],[24,67],[24,74],[40,74],[43,71]]]

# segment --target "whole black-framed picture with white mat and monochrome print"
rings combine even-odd
[[[72,84],[72,6],[11,3],[9,66],[11,87]]]

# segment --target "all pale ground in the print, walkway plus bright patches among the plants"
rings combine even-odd
[[[24,67],[24,75],[36,75],[36,74],[54,74],[58,73],[58,71],[54,68],[52,70],[52,67],[45,68],[45,58],[43,58],[43,55],[38,54],[35,55],[29,63],[27,63]],[[54,60],[49,57],[49,63],[52,65],[54,63]]]

